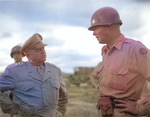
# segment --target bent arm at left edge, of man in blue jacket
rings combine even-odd
[[[10,90],[14,88],[14,81],[9,67],[11,66],[8,66],[0,76],[0,107],[4,113],[14,115],[18,112],[19,106],[9,96]]]

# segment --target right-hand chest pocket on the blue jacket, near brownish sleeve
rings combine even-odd
[[[59,89],[60,89],[60,83],[58,81],[51,81],[52,85],[52,97],[53,100],[59,100]]]

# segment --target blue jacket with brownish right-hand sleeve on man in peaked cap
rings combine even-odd
[[[44,117],[55,117],[56,110],[66,112],[67,90],[61,71],[55,65],[45,62],[44,76],[29,62],[10,65],[0,76],[0,90],[12,90],[13,102],[23,112]]]

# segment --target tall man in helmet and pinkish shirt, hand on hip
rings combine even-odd
[[[102,48],[101,80],[97,108],[105,117],[138,117],[122,110],[116,100],[137,103],[146,81],[150,81],[150,53],[141,42],[126,38],[122,21],[112,7],[102,7],[91,18],[90,31]],[[123,103],[121,103],[123,104]],[[132,109],[135,107],[132,107]]]

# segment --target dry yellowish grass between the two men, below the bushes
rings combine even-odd
[[[69,103],[65,117],[100,117],[96,109],[98,91],[91,87],[67,87]]]

